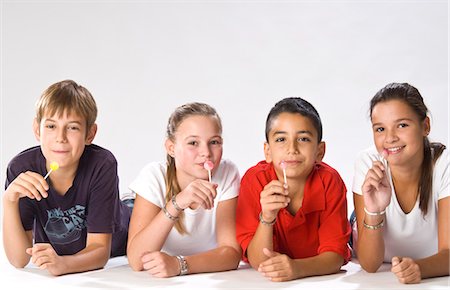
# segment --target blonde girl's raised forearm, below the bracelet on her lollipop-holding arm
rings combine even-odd
[[[128,240],[127,256],[133,270],[141,271],[143,269],[142,255],[161,250],[173,225],[174,221],[160,211],[150,224]]]

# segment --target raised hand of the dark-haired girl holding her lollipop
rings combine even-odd
[[[374,161],[362,185],[364,206],[370,212],[381,212],[391,202],[391,185],[386,168],[380,161]]]

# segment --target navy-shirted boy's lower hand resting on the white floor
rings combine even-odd
[[[45,269],[54,276],[65,273],[64,260],[50,244],[37,243],[32,248],[26,249],[26,252],[31,256],[31,262],[40,269]]]

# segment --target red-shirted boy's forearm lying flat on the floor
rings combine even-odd
[[[327,275],[339,272],[344,258],[335,252],[324,252],[317,256],[296,259],[295,271],[298,278]]]

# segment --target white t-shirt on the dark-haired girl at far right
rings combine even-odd
[[[362,195],[361,187],[372,162],[381,161],[374,147],[361,152],[355,162],[353,192]],[[433,169],[433,189],[424,217],[419,208],[419,198],[408,214],[401,209],[392,184],[391,172],[387,174],[392,187],[391,202],[386,208],[384,226],[384,261],[391,262],[393,256],[421,259],[438,251],[438,200],[450,196],[448,150],[444,150]]]

